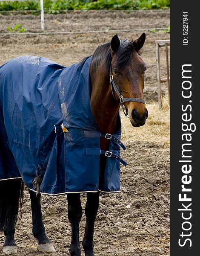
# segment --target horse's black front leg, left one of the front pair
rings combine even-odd
[[[80,194],[67,194],[68,218],[71,224],[71,245],[69,253],[71,256],[80,256],[79,223],[82,217]]]

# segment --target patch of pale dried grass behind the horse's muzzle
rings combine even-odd
[[[132,127],[128,118],[122,117],[123,141],[146,141],[157,145],[170,144],[170,106],[167,97],[164,97],[163,108],[159,110],[157,102],[147,104],[149,117],[144,126]],[[126,144],[126,143],[125,143]]]

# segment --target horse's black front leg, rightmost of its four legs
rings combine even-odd
[[[88,193],[86,202],[86,229],[83,238],[85,256],[94,256],[94,222],[99,207],[99,192]]]

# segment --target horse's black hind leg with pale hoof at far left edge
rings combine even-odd
[[[17,253],[14,224],[17,221],[19,199],[23,193],[22,180],[11,179],[0,183],[0,229],[6,236],[3,252],[6,254]]]

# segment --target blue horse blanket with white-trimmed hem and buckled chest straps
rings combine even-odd
[[[99,182],[101,134],[90,107],[90,61],[63,67],[22,56],[0,66],[0,180],[22,177],[29,189],[39,184],[37,190],[51,195],[120,190],[114,157],[106,157]],[[109,151],[120,157],[114,140]]]

